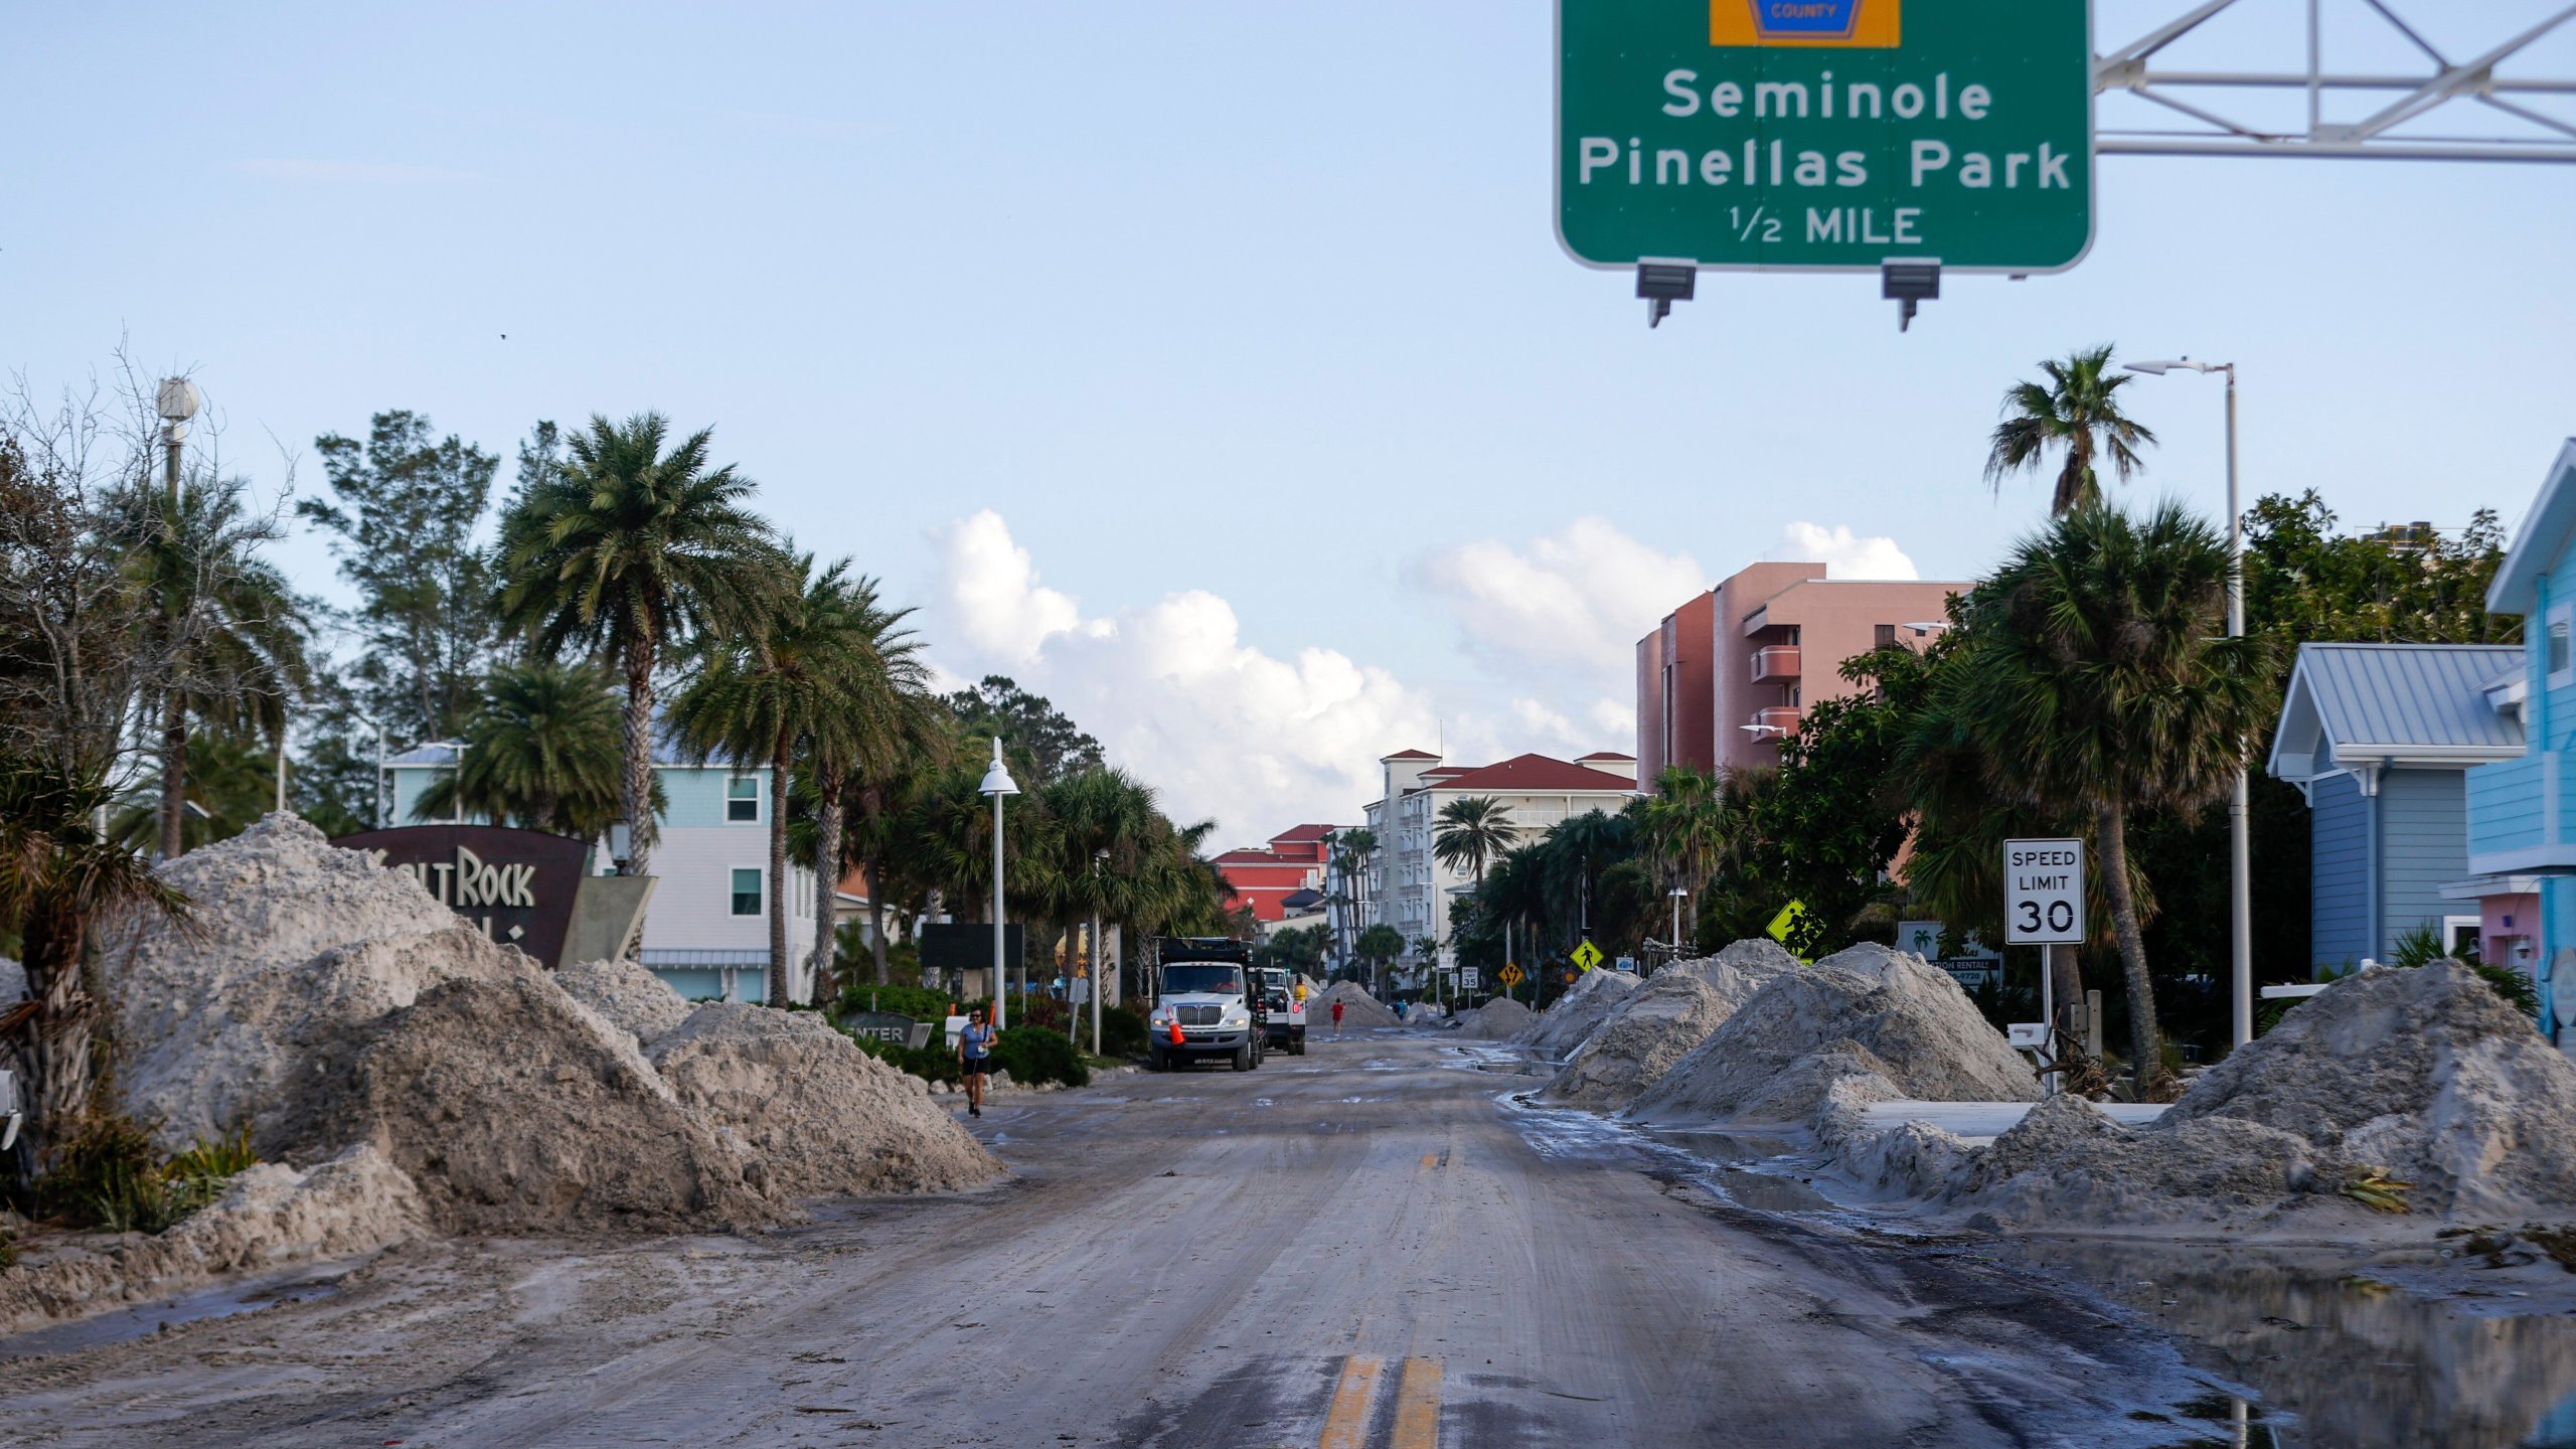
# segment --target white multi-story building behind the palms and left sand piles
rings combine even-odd
[[[453,745],[420,745],[384,761],[392,776],[386,825],[433,825],[415,817],[415,807],[453,768]],[[701,766],[677,755],[657,758],[652,768],[662,781],[662,838],[644,908],[644,964],[690,1000],[762,1000],[770,969],[770,771]],[[608,851],[592,851],[592,861],[600,871],[616,869]],[[788,980],[793,1000],[806,1000],[814,985],[814,869],[791,861],[786,892]]]

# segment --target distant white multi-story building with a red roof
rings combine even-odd
[[[1577,815],[1615,815],[1636,799],[1636,758],[1610,750],[1579,761],[1515,755],[1494,766],[1443,766],[1430,750],[1399,750],[1378,766],[1383,794],[1368,804],[1368,828],[1378,835],[1376,910],[1378,920],[1404,936],[1409,964],[1425,964],[1419,941],[1440,944],[1440,967],[1455,964],[1448,944],[1450,902],[1476,884],[1473,874],[1455,871],[1432,853],[1448,802],[1494,799],[1525,846]]]

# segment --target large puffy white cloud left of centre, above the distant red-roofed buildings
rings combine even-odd
[[[1046,588],[999,513],[930,534],[925,611],[943,668],[1010,673],[1100,737],[1110,763],[1162,792],[1175,820],[1216,817],[1221,846],[1298,822],[1358,822],[1378,758],[1435,740],[1430,696],[1327,647],[1244,645],[1234,606],[1203,590],[1084,616]]]

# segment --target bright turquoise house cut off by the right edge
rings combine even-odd
[[[2576,438],[2540,480],[2486,608],[2522,616],[2522,755],[2468,773],[2468,869],[2463,890],[2499,902],[2527,900],[2537,915],[2530,949],[2540,1026],[2576,1047]],[[2571,990],[2553,990],[2561,980]]]

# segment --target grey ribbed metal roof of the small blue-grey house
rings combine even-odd
[[[2311,779],[2318,745],[2336,766],[2514,758],[2522,722],[2486,686],[2519,663],[2522,645],[2300,645],[2269,768]]]

